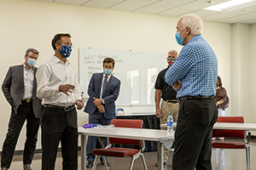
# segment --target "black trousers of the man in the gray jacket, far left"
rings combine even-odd
[[[15,146],[20,135],[20,130],[26,121],[26,143],[23,152],[23,164],[31,164],[34,150],[38,141],[39,118],[34,116],[31,103],[22,103],[17,114],[12,108],[9,119],[8,133],[3,142],[1,167],[10,167],[15,153]]]

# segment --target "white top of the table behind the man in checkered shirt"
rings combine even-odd
[[[167,124],[161,124],[160,127],[167,127]],[[176,127],[176,122],[174,122],[174,127]],[[213,129],[256,131],[256,123],[216,122]]]

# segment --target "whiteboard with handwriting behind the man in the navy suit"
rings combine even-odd
[[[136,52],[79,48],[79,84],[84,98],[90,77],[103,72],[103,59],[115,60],[113,76],[121,81],[116,105],[154,105],[154,82],[158,73],[167,67],[167,53]]]

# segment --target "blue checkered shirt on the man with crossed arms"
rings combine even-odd
[[[182,87],[177,99],[183,96],[215,96],[218,61],[207,41],[196,35],[185,45],[173,65],[166,71],[166,82],[171,86],[178,80]]]

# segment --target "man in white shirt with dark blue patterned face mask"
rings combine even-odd
[[[77,109],[81,100],[76,70],[67,60],[72,51],[71,36],[57,34],[52,40],[55,55],[38,68],[38,98],[42,99],[42,170],[54,170],[61,141],[62,168],[78,169]]]

